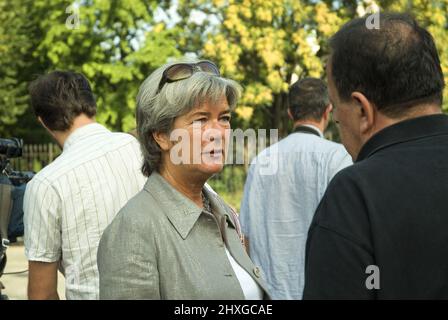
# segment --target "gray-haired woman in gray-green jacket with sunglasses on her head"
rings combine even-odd
[[[154,71],[137,97],[144,189],[98,250],[102,299],[262,299],[230,207],[207,179],[224,166],[239,86],[210,61]]]

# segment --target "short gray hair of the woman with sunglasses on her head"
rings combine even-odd
[[[205,102],[217,103],[226,97],[233,110],[241,95],[241,87],[233,80],[206,72],[196,72],[190,78],[165,84],[157,93],[163,72],[176,63],[167,63],[146,78],[137,95],[137,135],[143,153],[142,172],[145,176],[159,171],[162,151],[153,133],[169,133],[174,120]],[[186,61],[191,63],[192,61]]]

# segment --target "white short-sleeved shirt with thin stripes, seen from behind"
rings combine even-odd
[[[98,244],[115,214],[143,188],[141,163],[133,136],[93,123],[76,129],[62,154],[28,183],[25,254],[30,261],[60,261],[67,299],[99,298]]]

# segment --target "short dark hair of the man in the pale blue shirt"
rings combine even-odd
[[[320,121],[330,104],[328,90],[320,79],[304,78],[295,82],[288,93],[289,110],[297,120]]]

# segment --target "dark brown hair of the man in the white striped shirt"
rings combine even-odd
[[[96,114],[95,97],[81,73],[53,71],[31,82],[29,93],[34,113],[51,130],[66,131],[80,114]]]

